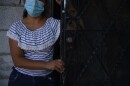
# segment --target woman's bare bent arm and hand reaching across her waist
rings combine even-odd
[[[63,62],[53,60],[50,62],[30,60],[24,57],[24,51],[18,47],[17,41],[9,38],[10,52],[15,66],[32,70],[57,70],[63,72]]]

